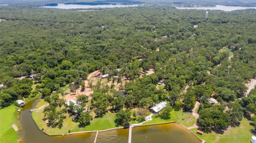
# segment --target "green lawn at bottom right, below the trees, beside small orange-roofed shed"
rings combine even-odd
[[[252,126],[250,121],[243,118],[239,127],[230,127],[224,134],[215,132],[204,133],[203,135],[196,134],[197,128],[191,129],[200,139],[204,139],[207,143],[248,143],[252,137],[250,132]]]

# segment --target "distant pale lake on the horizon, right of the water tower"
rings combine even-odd
[[[254,8],[256,9],[256,7],[245,7],[245,6],[222,6],[222,5],[216,5],[215,7],[176,7],[177,9],[180,10],[224,10],[225,12],[230,12],[233,10],[245,10],[245,9],[249,9],[249,8]]]

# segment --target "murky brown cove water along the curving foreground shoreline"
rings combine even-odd
[[[79,133],[73,135],[48,136],[40,131],[32,119],[30,109],[33,109],[38,100],[30,102],[20,112],[19,131],[21,143],[94,143],[96,133]],[[99,132],[96,143],[128,143],[129,129],[114,129]],[[132,143],[201,143],[186,128],[176,123],[149,125],[132,128]]]

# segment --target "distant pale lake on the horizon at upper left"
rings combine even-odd
[[[60,9],[72,9],[72,8],[117,8],[117,7],[129,7],[129,6],[138,6],[138,4],[133,5],[81,5],[81,4],[58,4],[58,6],[43,6],[42,8],[60,8]]]

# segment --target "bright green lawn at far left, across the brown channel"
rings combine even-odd
[[[18,107],[11,105],[0,109],[0,143],[17,143],[18,132],[12,128],[12,124],[18,127]]]

